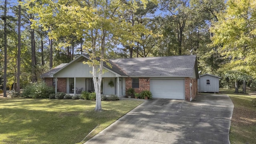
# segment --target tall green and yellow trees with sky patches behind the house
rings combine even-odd
[[[255,0],[2,0],[0,17],[2,88],[103,49],[104,59],[196,54],[221,88],[256,90]]]

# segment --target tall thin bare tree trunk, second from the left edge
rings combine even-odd
[[[19,0],[20,2],[21,0]],[[21,53],[21,34],[20,34],[20,21],[21,21],[21,6],[19,4],[19,16],[18,16],[18,58],[17,58],[17,92],[20,94],[20,53]],[[15,84],[15,81],[14,81]]]

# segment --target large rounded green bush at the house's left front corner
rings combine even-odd
[[[54,88],[52,86],[48,86],[44,82],[36,82],[24,88],[22,97],[49,98],[50,94],[54,94]]]

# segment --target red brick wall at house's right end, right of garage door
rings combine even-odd
[[[190,83],[192,83],[191,96],[194,99],[197,93],[197,79],[185,78],[185,100],[188,101],[190,101]]]

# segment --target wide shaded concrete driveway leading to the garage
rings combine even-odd
[[[217,94],[147,100],[85,144],[229,144],[233,108]]]

